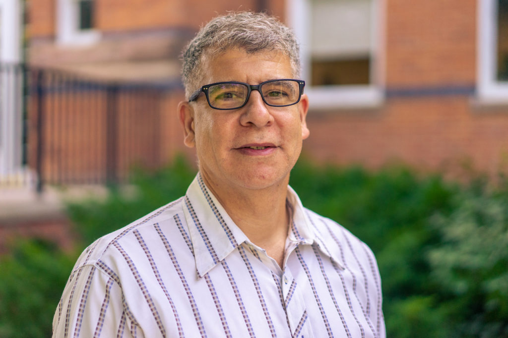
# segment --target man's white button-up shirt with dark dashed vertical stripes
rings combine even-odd
[[[103,236],[80,256],[54,337],[385,337],[370,249],[305,209],[283,268],[252,244],[200,174],[185,196]]]

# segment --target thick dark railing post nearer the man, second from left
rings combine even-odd
[[[106,183],[117,183],[118,85],[108,85],[106,91]]]

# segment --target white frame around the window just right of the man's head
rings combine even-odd
[[[300,42],[302,79],[310,79],[310,1],[288,0],[287,18]],[[386,0],[373,0],[372,56],[370,64],[370,84],[305,86],[313,109],[336,108],[375,108],[384,102],[385,82],[385,13]]]

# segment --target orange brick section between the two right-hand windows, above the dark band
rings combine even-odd
[[[387,0],[387,86],[472,84],[475,0]]]

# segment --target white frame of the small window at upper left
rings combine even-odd
[[[58,0],[57,3],[57,42],[61,45],[92,45],[101,39],[97,29],[79,29],[77,0]]]

